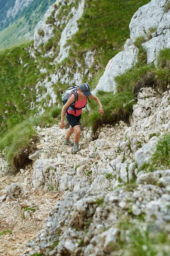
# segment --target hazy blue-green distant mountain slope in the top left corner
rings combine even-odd
[[[30,41],[34,28],[55,0],[0,2],[0,49]]]

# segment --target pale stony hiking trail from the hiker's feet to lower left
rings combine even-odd
[[[124,124],[125,125],[125,124]],[[118,125],[113,128],[112,126],[103,127],[102,133],[107,134],[109,148],[111,147],[111,141],[116,134],[122,134],[124,127],[118,128]],[[37,149],[41,148],[40,159],[53,160],[58,157],[61,162],[58,165],[59,177],[63,175],[70,175],[70,173],[82,166],[86,172],[91,169],[91,165],[96,161],[94,158],[89,160],[87,154],[89,153],[89,143],[92,140],[90,132],[84,131],[82,133],[82,139],[80,147],[82,148],[78,154],[72,154],[72,147],[63,144],[65,135],[65,129],[61,130],[57,125],[52,128],[40,129],[37,128],[40,145],[37,145]],[[119,132],[119,133],[118,133]],[[101,136],[102,136],[101,133]],[[84,138],[85,134],[86,138]],[[99,136],[100,137],[100,136]],[[72,138],[73,140],[73,138]],[[91,144],[94,144],[93,141]],[[107,150],[108,145],[105,146]],[[40,154],[40,151],[38,153]],[[112,155],[111,152],[110,155]],[[63,165],[63,158],[65,163]],[[34,158],[33,158],[34,159]],[[9,167],[5,160],[0,159],[1,171],[6,173],[6,169],[10,172]],[[80,170],[80,172],[82,171]],[[32,186],[34,166],[29,165],[26,169],[20,169],[17,175],[3,175],[0,179],[0,253],[2,256],[19,256],[21,252],[28,252],[29,248],[26,247],[26,243],[31,239],[35,239],[36,235],[40,232],[45,225],[45,220],[49,215],[50,210],[54,207],[57,201],[63,200],[64,196],[68,194],[67,187],[61,188],[58,192],[57,189],[51,185],[46,188],[34,188]],[[86,173],[85,173],[86,175]],[[88,177],[88,176],[87,176]],[[91,178],[86,180],[86,185],[91,185]],[[21,188],[24,188],[24,193],[17,193],[17,187],[12,188],[13,184],[20,184]],[[6,198],[7,191],[11,190],[8,198]],[[22,191],[22,189],[21,189]],[[5,196],[4,196],[5,194]],[[12,198],[14,196],[14,198]],[[12,199],[11,199],[12,198]],[[28,209],[28,210],[27,210]],[[4,231],[7,231],[3,234]]]

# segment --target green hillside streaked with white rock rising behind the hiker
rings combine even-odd
[[[86,1],[84,13],[81,19],[78,20],[79,30],[71,40],[67,41],[67,44],[71,44],[71,48],[68,57],[62,63],[56,63],[55,61],[60,48],[58,43],[62,30],[65,29],[65,17],[71,12],[71,8],[78,7],[76,1],[71,5],[62,2],[59,6],[54,5],[53,11],[48,14],[45,20],[48,31],[52,28],[53,37],[46,43],[41,44],[38,49],[34,49],[33,43],[30,43],[1,52],[1,137],[4,132],[23,119],[34,116],[36,113],[42,113],[49,106],[56,103],[61,104],[61,94],[69,86],[69,81],[74,79],[74,74],[76,77],[79,71],[81,71],[81,76],[78,75],[76,83],[88,81],[92,89],[96,87],[105,64],[113,55],[119,52],[129,36],[128,24],[130,18],[140,6],[147,2],[146,0],[130,1],[128,4],[122,1],[117,4],[116,1],[105,1],[105,3]],[[28,11],[27,9],[27,13]],[[57,13],[57,16],[55,15],[54,18],[55,13]],[[68,18],[72,16],[73,14],[70,14]],[[119,17],[122,17],[122,19],[119,19]],[[27,18],[20,18],[21,22],[25,23]],[[62,20],[60,27],[54,24],[56,20]],[[16,22],[17,24],[14,23],[0,32],[4,33],[6,41],[8,41],[8,36],[11,37],[12,32],[22,31],[18,26],[20,20]],[[37,32],[40,34],[38,34],[40,38],[44,37],[42,29],[37,28]],[[17,40],[20,40],[19,37]],[[93,58],[95,60],[89,67],[88,73],[82,75],[82,70],[87,72],[84,57],[90,51],[94,51]]]

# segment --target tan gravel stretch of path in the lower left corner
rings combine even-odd
[[[4,161],[2,162],[4,164]],[[51,208],[63,197],[58,192],[44,193],[40,189],[32,188],[32,173],[32,166],[27,166],[16,176],[6,175],[0,179],[0,196],[4,195],[14,183],[21,184],[28,192],[25,198],[18,196],[15,200],[8,198],[6,201],[0,201],[0,255],[2,256],[20,256],[23,250],[28,251],[25,246],[26,241],[36,237],[45,225],[45,219]],[[6,230],[9,232],[3,234]]]

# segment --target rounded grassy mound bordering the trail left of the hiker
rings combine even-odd
[[[36,149],[38,138],[34,126],[49,127],[57,122],[51,116],[54,110],[55,107],[41,116],[24,120],[11,128],[0,140],[0,150],[3,151],[8,163],[16,170],[25,167],[30,162],[28,155]]]

